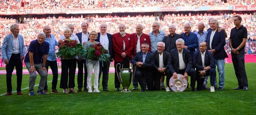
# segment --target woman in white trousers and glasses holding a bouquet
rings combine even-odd
[[[97,39],[98,34],[95,30],[92,30],[89,33],[90,41],[85,42],[84,47],[90,47],[90,45],[94,45],[100,42],[95,41]],[[100,64],[99,61],[92,61],[91,59],[86,59],[86,68],[87,68],[87,89],[88,93],[92,93],[92,69],[94,69],[94,85],[93,85],[93,92],[99,93],[99,71],[100,71]]]

